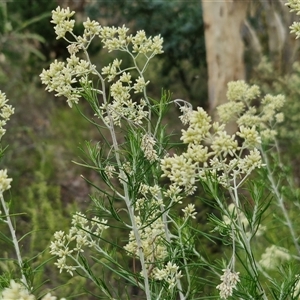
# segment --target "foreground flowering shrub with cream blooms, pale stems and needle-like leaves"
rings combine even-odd
[[[296,1],[290,3],[300,11]],[[89,103],[93,116],[84,117],[101,137],[86,142],[86,159],[78,164],[95,170],[106,185],[85,178],[95,188],[94,209],[75,213],[71,228],[54,234],[50,253],[59,271],[88,278],[105,299],[130,299],[132,286],[147,300],[299,299],[299,224],[293,214],[299,202],[284,193],[277,151],[276,126],[284,120],[285,97],[261,95],[257,85],[244,81],[230,82],[228,103],[217,109],[218,122],[166,92],[157,101],[147,94],[146,70],[163,53],[160,36],[130,34],[125,26],[103,27],[90,19],[79,36],[73,32],[74,12],[58,7],[52,13],[57,38],[68,42],[70,57],[55,60],[40,77],[47,91],[64,96],[83,115],[80,101]],[[109,52],[128,55],[131,66],[114,59],[98,71],[88,54],[94,38]],[[5,125],[13,109],[1,97]],[[179,107],[184,127],[176,153],[170,151],[174,145],[163,123],[171,105]],[[233,134],[227,131],[231,122]],[[21,275],[0,299],[35,299],[3,198],[11,179],[6,170],[0,175],[1,220],[10,228]],[[210,232],[197,224],[201,200],[214,208]],[[273,237],[276,222],[284,239]],[[126,241],[110,236],[114,228],[126,231]],[[202,249],[203,239],[222,245],[218,260]],[[113,272],[125,288],[111,287],[95,265]]]

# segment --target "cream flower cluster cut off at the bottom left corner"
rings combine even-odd
[[[57,297],[52,296],[50,293],[46,294],[41,300],[56,300]],[[0,300],[36,300],[35,296],[20,283],[14,280],[10,281],[9,287],[0,292]],[[66,300],[61,298],[60,300]]]

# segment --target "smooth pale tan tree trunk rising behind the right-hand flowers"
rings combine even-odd
[[[202,0],[210,112],[226,102],[227,83],[245,79],[241,28],[249,1]]]

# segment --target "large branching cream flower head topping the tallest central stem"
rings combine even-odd
[[[69,8],[57,7],[56,10],[52,11],[51,22],[56,25],[54,28],[57,38],[64,38],[70,44],[68,46],[70,58],[67,59],[67,63],[55,60],[48,70],[43,70],[40,77],[42,83],[46,85],[46,90],[49,92],[55,91],[55,96],[66,97],[68,105],[72,107],[78,103],[84,91],[84,86],[91,85],[90,74],[98,76],[102,83],[104,80],[111,82],[116,76],[119,76],[117,82],[112,84],[110,88],[113,101],[108,104],[107,99],[104,99],[105,103],[100,109],[99,115],[107,115],[105,119],[107,124],[112,119],[115,124],[120,126],[121,118],[140,124],[146,116],[144,111],[145,101],[141,100],[140,105],[133,103],[130,99],[130,92],[140,93],[144,91],[149,83],[145,81],[142,75],[146,68],[139,69],[135,62],[139,76],[133,84],[130,73],[120,69],[121,61],[117,59],[108,66],[103,67],[101,75],[96,71],[95,66],[91,64],[87,49],[92,40],[98,37],[103,47],[109,51],[128,52],[134,60],[142,54],[146,57],[148,63],[148,60],[153,56],[163,52],[163,39],[160,36],[147,38],[144,31],[138,31],[136,35],[129,35],[127,33],[129,29],[125,26],[118,28],[103,27],[89,18],[83,22],[84,32],[82,36],[76,36],[73,33],[75,21],[70,19],[74,14],[75,12],[71,12]],[[67,32],[74,41],[70,41],[65,37]],[[79,59],[76,56],[80,50],[87,56],[87,60]],[[102,88],[104,88],[103,85]],[[105,91],[98,90],[97,92],[105,94]]]

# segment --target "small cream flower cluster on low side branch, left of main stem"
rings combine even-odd
[[[50,244],[50,253],[58,257],[55,265],[60,272],[66,270],[73,276],[73,271],[78,268],[78,255],[83,253],[86,247],[98,249],[100,239],[97,237],[101,237],[103,231],[108,228],[105,224],[107,220],[100,220],[98,217],[89,222],[84,214],[78,212],[73,216],[73,226],[67,234],[62,230],[55,232],[54,241]]]

